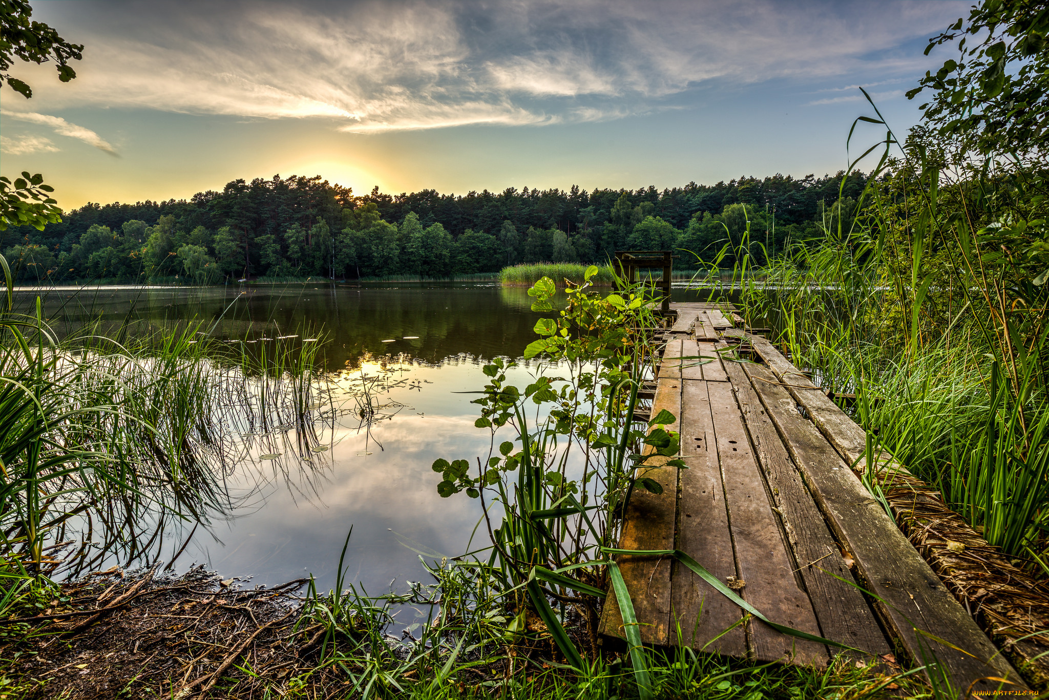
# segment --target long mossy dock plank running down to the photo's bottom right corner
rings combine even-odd
[[[788,365],[793,365],[768,341],[751,336],[751,342],[763,358],[770,360],[773,370],[779,368],[775,374],[789,390],[777,398],[763,396],[766,410],[835,537],[852,553],[864,587],[884,601],[877,609],[912,662],[923,663],[923,657],[932,652],[958,688],[969,688],[971,684],[972,691],[994,690],[998,683],[986,680],[990,676],[1016,683],[1010,690],[1026,687],[896,523],[841,461],[837,450],[795,408],[795,401],[800,402],[802,397],[806,401],[816,401],[822,395],[795,388],[812,384],[796,368],[788,369]],[[759,383],[755,381],[755,385]],[[828,401],[827,397],[822,399]],[[912,622],[964,651],[920,637]]]

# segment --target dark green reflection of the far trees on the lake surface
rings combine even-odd
[[[534,339],[538,314],[521,288],[419,285],[414,288],[200,288],[138,292],[52,292],[45,300],[60,332],[99,322],[101,332],[136,321],[132,332],[173,327],[190,319],[216,323],[223,339],[254,339],[303,323],[323,326],[331,339],[325,368],[342,369],[366,352],[407,352],[430,364],[463,354],[518,356]],[[135,330],[137,328],[137,330]],[[294,333],[294,332],[293,332]],[[419,336],[406,340],[404,336]]]

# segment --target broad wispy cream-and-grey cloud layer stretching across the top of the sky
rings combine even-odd
[[[544,125],[645,113],[705,85],[895,73],[913,61],[894,49],[964,6],[231,0],[127,14],[71,3],[64,20],[89,47],[79,77],[34,87],[59,107],[320,118],[359,132]]]

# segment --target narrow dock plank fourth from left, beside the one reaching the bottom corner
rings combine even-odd
[[[726,362],[747,431],[765,472],[773,501],[779,509],[787,539],[793,548],[794,569],[805,585],[819,622],[821,635],[866,654],[850,652],[870,662],[892,651],[863,594],[849,582],[852,573],[827,528],[801,475],[791,462],[775,426],[769,419],[754,387],[744,372],[768,373],[753,364]],[[771,375],[770,375],[771,376]],[[757,382],[762,384],[762,382]],[[782,386],[763,384],[770,393],[785,391]],[[833,575],[832,575],[833,574]],[[838,578],[835,578],[837,576]],[[843,580],[842,580],[843,579]]]

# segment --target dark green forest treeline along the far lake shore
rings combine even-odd
[[[761,263],[765,251],[816,232],[841,177],[355,196],[320,176],[275,175],[189,200],[88,204],[43,231],[8,229],[0,250],[21,281],[445,278],[517,262],[598,262],[630,249],[683,249],[676,266],[694,268],[729,237],[737,243],[749,219]],[[848,215],[865,182],[851,174],[833,210]]]

